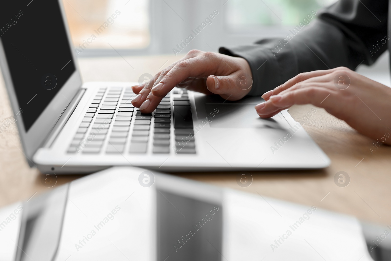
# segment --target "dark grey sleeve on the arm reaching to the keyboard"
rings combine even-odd
[[[262,95],[300,72],[339,66],[354,70],[362,61],[371,65],[387,49],[391,36],[387,13],[388,0],[339,0],[310,24],[294,27],[297,34],[288,31],[291,39],[264,39],[221,47],[219,52],[246,59],[253,74],[249,95]]]

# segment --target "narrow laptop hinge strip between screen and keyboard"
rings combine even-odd
[[[50,146],[52,146],[54,140],[57,138],[57,135],[63,129],[63,127],[65,126],[69,117],[72,115],[72,113],[75,111],[76,106],[77,106],[77,104],[79,104],[79,101],[81,100],[81,97],[83,97],[83,94],[85,91],[86,91],[86,89],[80,89],[79,92],[77,92],[75,97],[72,99],[72,101],[65,108],[63,113],[61,113],[56,124],[54,124],[54,127],[52,128],[52,130],[48,134],[48,137],[45,140],[45,143],[43,144],[43,148],[49,148]]]

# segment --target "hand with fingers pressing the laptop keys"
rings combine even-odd
[[[132,104],[150,113],[175,86],[223,99],[239,100],[251,90],[253,80],[248,62],[239,57],[191,50],[187,55],[141,86],[132,86],[138,94]]]

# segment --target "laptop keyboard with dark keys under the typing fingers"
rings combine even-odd
[[[149,114],[133,107],[134,96],[130,87],[99,88],[68,153],[145,154],[150,148],[154,154],[195,153],[187,90],[175,88]],[[172,127],[174,144],[170,144]]]

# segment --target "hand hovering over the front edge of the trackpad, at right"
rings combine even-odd
[[[261,118],[272,117],[293,104],[310,103],[360,133],[391,145],[391,88],[348,68],[298,74],[262,98],[266,102],[255,106]]]

